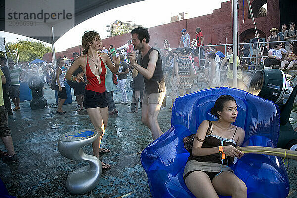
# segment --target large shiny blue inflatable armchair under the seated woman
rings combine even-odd
[[[222,94],[233,96],[237,102],[234,124],[245,130],[242,146],[276,147],[280,112],[271,101],[227,87],[180,96],[173,105],[171,128],[141,154],[153,198],[195,198],[182,178],[190,155],[183,138],[196,133],[203,120],[216,120],[210,109]],[[230,167],[245,182],[248,198],[286,198],[289,193],[288,175],[280,157],[245,154]]]

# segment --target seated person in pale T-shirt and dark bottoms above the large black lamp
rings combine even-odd
[[[287,52],[282,47],[283,47],[283,44],[281,42],[277,42],[275,44],[275,47],[274,48],[269,49],[269,51],[268,51],[268,58],[264,60],[265,67],[271,67],[271,66],[275,66],[275,65],[280,65],[281,64],[283,55]]]

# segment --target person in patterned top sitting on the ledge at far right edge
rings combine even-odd
[[[290,50],[287,51],[284,60],[281,62],[281,70],[290,71],[290,69],[297,64],[297,43],[296,41],[290,41],[289,43]]]

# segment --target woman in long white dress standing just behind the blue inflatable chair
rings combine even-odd
[[[212,87],[223,87],[220,80],[220,67],[219,63],[215,60],[215,53],[209,52],[208,61],[210,62],[208,77],[206,78],[206,82],[208,82],[208,88]]]

